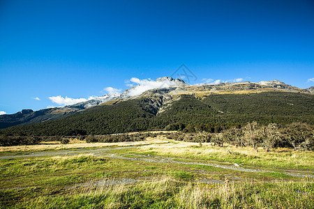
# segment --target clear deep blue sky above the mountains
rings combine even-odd
[[[0,112],[124,90],[183,63],[191,84],[313,86],[314,2],[0,1]]]

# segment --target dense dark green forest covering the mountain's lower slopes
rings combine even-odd
[[[179,97],[160,113],[147,102],[149,98],[138,98],[98,105],[55,121],[8,127],[0,130],[0,135],[39,137],[195,129],[211,133],[241,128],[253,121],[262,125],[314,124],[313,94],[264,92]]]

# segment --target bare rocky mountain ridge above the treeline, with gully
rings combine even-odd
[[[279,80],[272,80],[269,82],[262,81],[257,83],[239,82],[190,85],[186,84],[182,79],[160,77],[152,84],[155,85],[153,86],[155,88],[147,90],[143,88],[140,89],[140,91],[137,91],[137,88],[141,86],[132,86],[122,93],[102,95],[86,102],[80,102],[66,107],[40,109],[38,111],[22,110],[16,114],[2,115],[0,116],[0,128],[57,120],[73,114],[79,114],[81,111],[97,105],[110,104],[110,102],[114,104],[114,102],[122,102],[137,98],[150,98],[147,100],[147,104],[151,106],[151,113],[156,115],[170,107],[172,102],[178,100],[180,95],[193,95],[196,98],[202,99],[208,95],[215,94],[249,94],[267,91],[313,93],[313,91],[311,91],[313,88],[297,88]],[[137,93],[137,95],[135,93]]]

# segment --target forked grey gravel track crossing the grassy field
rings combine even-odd
[[[94,149],[81,149],[81,150],[50,150],[43,152],[31,153],[29,155],[6,155],[1,156],[0,160],[18,158],[18,157],[53,157],[57,155],[84,155],[84,154],[92,154],[97,156],[111,157],[116,159],[123,160],[132,160],[132,161],[142,161],[142,162],[156,162],[156,163],[167,163],[167,164],[194,164],[194,165],[202,165],[209,167],[218,167],[220,169],[231,169],[234,171],[244,171],[244,172],[274,172],[267,171],[266,169],[248,169],[244,167],[239,167],[237,164],[221,164],[218,162],[193,162],[184,158],[176,158],[176,157],[163,157],[163,156],[148,156],[148,155],[116,155],[112,153],[108,153],[110,150],[120,150],[120,149],[128,149],[128,148],[137,148],[139,146],[124,146],[124,147],[107,147],[107,148],[94,148]],[[126,157],[132,156],[132,157]],[[302,173],[301,173],[302,172]],[[303,173],[304,171],[282,171],[289,176],[297,176],[302,178],[314,178],[314,175],[310,173]]]

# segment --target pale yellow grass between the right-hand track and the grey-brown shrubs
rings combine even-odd
[[[239,155],[230,155],[227,148]],[[295,151],[291,149],[271,150],[267,153],[262,148],[256,153],[251,147],[236,147],[226,145],[224,147],[211,146],[203,143],[177,141],[177,144],[159,144],[142,146],[137,153],[154,152],[156,155],[167,157],[183,157],[195,160],[209,160],[231,162],[254,167],[276,167],[294,169],[314,169],[314,153],[311,151]]]

